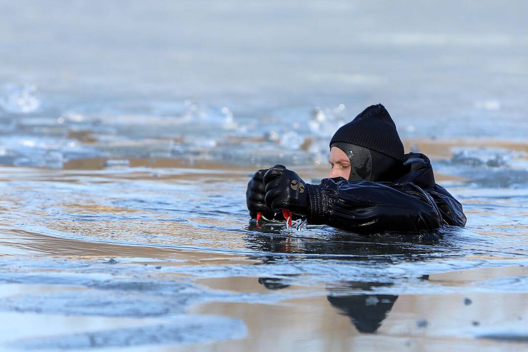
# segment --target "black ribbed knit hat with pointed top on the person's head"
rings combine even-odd
[[[366,108],[341,126],[330,141],[331,147],[334,142],[355,144],[403,161],[403,143],[389,111],[382,104]]]

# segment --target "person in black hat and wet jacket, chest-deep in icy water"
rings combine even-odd
[[[246,201],[252,218],[282,217],[282,209],[308,224],[355,233],[423,232],[464,226],[461,204],[435,182],[429,158],[404,154],[394,121],[382,104],[366,108],[335,132],[332,169],[319,185],[282,165],[256,172]]]

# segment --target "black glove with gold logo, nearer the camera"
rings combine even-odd
[[[282,165],[275,165],[264,175],[266,205],[275,212],[282,208],[307,215],[309,212],[308,188],[302,178]]]

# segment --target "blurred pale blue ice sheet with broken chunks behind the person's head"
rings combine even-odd
[[[379,102],[403,138],[524,140],[527,12],[523,1],[0,2],[2,162],[320,163],[334,131]],[[26,138],[54,141],[17,147]],[[71,143],[82,153],[65,153]]]

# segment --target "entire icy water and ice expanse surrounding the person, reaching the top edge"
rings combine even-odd
[[[0,4],[0,349],[526,349],[508,4]],[[319,182],[335,130],[379,102],[464,229],[250,221],[256,169]]]

